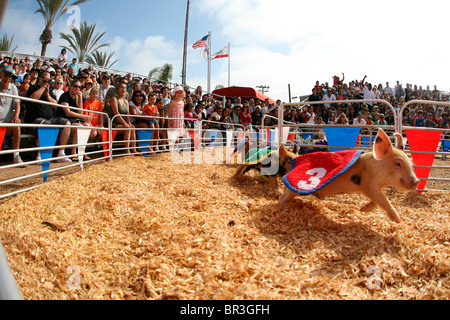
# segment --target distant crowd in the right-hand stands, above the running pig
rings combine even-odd
[[[394,117],[403,110],[401,115],[404,126],[449,128],[449,106],[427,103],[427,101],[448,102],[448,95],[443,95],[434,86],[423,89],[422,86],[407,83],[405,88],[397,81],[394,87],[386,82],[374,85],[366,81],[367,76],[360,81],[352,80],[345,83],[342,79],[333,77],[333,84],[328,82],[316,84],[308,97],[309,102],[335,101],[335,104],[306,105],[304,108],[294,108],[285,114],[285,119],[296,123],[324,124],[355,124],[355,125],[394,125]],[[367,100],[355,102],[351,100]],[[385,100],[387,104],[371,100]],[[409,101],[417,101],[403,108]],[[342,103],[338,103],[343,101]],[[423,101],[423,102],[421,102]],[[394,114],[395,112],[395,114]]]

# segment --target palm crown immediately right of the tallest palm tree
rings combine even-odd
[[[95,33],[96,26],[96,23],[88,25],[87,21],[83,21],[80,29],[71,30],[72,34],[61,32],[59,34],[61,39],[69,43],[67,47],[62,46],[62,48],[69,50],[83,63],[91,52],[98,51],[98,49],[103,47],[109,47],[109,43],[99,44],[100,39],[106,34],[106,31],[103,33]]]

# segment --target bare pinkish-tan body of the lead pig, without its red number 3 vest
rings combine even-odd
[[[403,152],[404,142],[401,134],[396,133],[394,148],[387,134],[380,129],[373,151],[363,153],[355,164],[319,191],[313,193],[319,199],[343,193],[363,193],[371,201],[361,211],[369,212],[380,206],[389,218],[400,223],[397,210],[391,205],[383,188],[393,186],[403,190],[416,190],[419,185],[411,161]],[[297,193],[286,188],[280,198],[279,206],[292,200]]]

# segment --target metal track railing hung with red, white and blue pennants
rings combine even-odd
[[[11,97],[6,94],[0,94],[0,96]],[[29,98],[20,98],[22,101],[34,101]],[[367,100],[351,100],[349,103],[368,102]],[[370,101],[369,101],[370,102]],[[416,128],[416,127],[404,127],[402,125],[400,114],[403,109],[396,111],[388,102],[384,100],[373,100],[373,102],[384,103],[388,108],[392,108],[395,112],[395,124],[393,126],[381,126],[393,139],[393,133],[400,132],[406,138],[407,149],[406,152],[410,153],[413,159],[414,166],[418,173],[418,177],[421,178],[423,184],[421,189],[425,190],[426,181],[437,180],[447,182],[449,179],[444,177],[430,178],[429,173],[433,168],[448,170],[447,166],[433,166],[433,162],[436,156],[441,156],[446,159],[449,155],[450,144],[450,130],[448,129],[432,129],[432,128]],[[411,101],[409,104],[418,103],[419,101]],[[48,105],[63,107],[54,105],[49,102],[39,101],[39,103],[45,103]],[[333,102],[315,102],[315,103],[297,103],[297,104],[284,104],[285,106],[302,106],[304,104],[330,104]],[[340,101],[339,103],[345,103]],[[450,103],[444,102],[425,102],[439,105],[449,105]],[[76,109],[76,108],[72,108]],[[20,175],[11,177],[0,181],[0,186],[15,183],[20,180],[34,178],[37,176],[43,177],[45,183],[48,175],[57,171],[66,170],[68,168],[80,167],[84,169],[85,164],[102,161],[113,161],[117,157],[123,157],[131,149],[139,150],[139,155],[147,157],[148,155],[160,153],[160,152],[177,152],[177,150],[189,150],[198,151],[205,148],[218,148],[227,147],[235,149],[239,141],[242,139],[252,140],[256,145],[270,144],[273,146],[279,146],[281,143],[287,146],[298,145],[300,148],[318,151],[327,149],[329,151],[340,151],[345,149],[362,149],[370,150],[373,145],[373,140],[376,137],[376,133],[380,126],[355,126],[355,125],[310,125],[310,124],[296,124],[292,122],[284,121],[284,113],[278,112],[278,125],[271,127],[254,127],[244,126],[242,124],[224,124],[215,121],[193,121],[192,119],[185,119],[186,122],[193,123],[192,127],[185,129],[167,129],[167,128],[132,128],[130,130],[135,131],[136,139],[129,140],[130,144],[125,147],[127,141],[123,138],[123,133],[128,129],[114,128],[112,123],[117,117],[110,119],[106,113],[98,113],[103,116],[105,128],[92,128],[92,127],[80,127],[70,126],[70,128],[76,128],[78,130],[78,143],[76,145],[58,145],[57,137],[60,129],[66,126],[55,125],[37,125],[37,124],[7,124],[3,123],[0,127],[0,142],[3,144],[5,132],[8,127],[19,126],[22,129],[34,130],[35,135],[32,138],[36,138],[37,146],[21,148],[20,150],[2,150],[0,156],[13,154],[15,151],[20,151],[21,154],[40,153],[40,160],[32,160],[25,162],[25,165],[40,165],[42,171],[35,172],[28,175]],[[133,117],[131,115],[122,115],[123,117]],[[271,115],[264,115],[264,117],[271,117]],[[148,117],[150,118],[150,117]],[[154,117],[152,117],[154,118]],[[156,117],[156,119],[160,119]],[[264,123],[264,121],[263,121]],[[228,127],[228,130],[223,129],[223,126]],[[89,141],[89,135],[92,129],[96,129],[99,133],[99,138]],[[157,139],[152,139],[154,132],[157,132]],[[163,133],[166,135],[163,136]],[[30,135],[26,135],[27,138]],[[67,158],[78,158],[78,162],[72,162],[69,164],[55,165],[51,167],[51,163],[57,162],[61,157],[54,157],[54,150],[65,148],[70,150],[71,148],[77,148],[77,154],[71,155],[67,152]],[[92,157],[91,160],[84,160],[84,156]],[[229,163],[229,159],[224,159],[223,163]],[[5,164],[0,166],[0,170],[19,169],[22,164]],[[15,172],[20,172],[15,171]],[[31,190],[38,186],[27,186],[22,190],[14,190],[6,194],[0,195],[0,199],[7,198],[18,193]]]

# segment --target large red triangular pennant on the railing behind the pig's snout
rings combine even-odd
[[[423,131],[423,130],[405,130],[411,151],[436,152],[442,132]],[[435,154],[412,153],[413,163],[416,166],[432,166]],[[431,168],[415,168],[417,178],[428,179]],[[425,189],[427,182],[421,181],[418,189]]]

